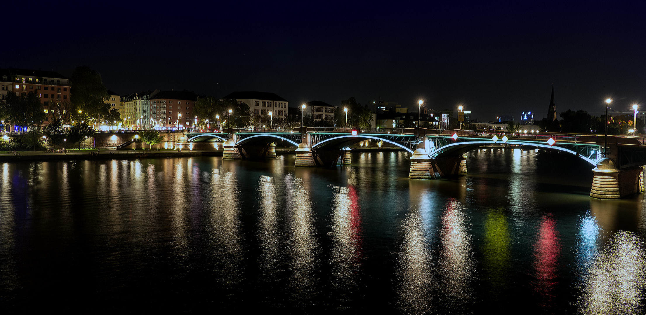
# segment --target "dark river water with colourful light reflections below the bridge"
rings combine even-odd
[[[0,310],[643,314],[643,194],[590,199],[566,154],[407,156],[0,163]]]

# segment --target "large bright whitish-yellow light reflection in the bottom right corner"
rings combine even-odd
[[[581,314],[643,314],[646,252],[640,238],[626,231],[614,234],[583,282]]]

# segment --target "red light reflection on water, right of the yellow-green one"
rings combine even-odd
[[[546,298],[543,305],[554,297],[556,286],[557,263],[561,255],[561,239],[556,230],[556,221],[552,214],[543,217],[538,229],[538,237],[534,244],[534,268],[536,269],[536,283],[534,290]]]

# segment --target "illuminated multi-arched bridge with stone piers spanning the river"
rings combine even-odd
[[[269,147],[273,142],[282,140],[284,144],[298,147],[297,166],[328,167],[349,163],[349,145],[365,139],[376,139],[413,154],[409,177],[416,179],[436,178],[437,174],[441,177],[466,175],[466,157],[463,154],[477,147],[523,145],[561,150],[594,165],[596,179],[593,181],[593,190],[595,185],[601,187],[601,190],[591,193],[591,196],[604,198],[603,194],[614,194],[623,197],[644,190],[642,165],[646,165],[646,145],[643,145],[643,139],[639,137],[483,133],[423,128],[377,132],[302,127],[291,132],[225,130],[217,134],[189,134],[188,139],[192,142],[226,141],[225,158],[262,158],[269,154]],[[607,147],[604,150],[605,143]],[[227,155],[227,150],[233,153]],[[605,165],[602,167],[604,169],[598,167],[601,164]],[[619,174],[624,174],[623,178],[630,178],[625,179],[625,183],[621,185],[632,185],[632,188],[618,188],[623,180]],[[613,183],[608,184],[608,181]],[[607,192],[604,190],[606,188],[613,191]]]

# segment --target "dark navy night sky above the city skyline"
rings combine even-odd
[[[422,98],[481,121],[547,116],[552,82],[557,112],[599,116],[607,97],[616,112],[646,110],[640,2],[66,4],[9,5],[0,67],[69,76],[87,65],[119,94],[257,90],[291,107]]]

